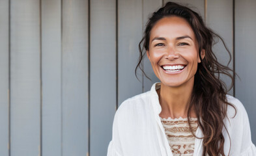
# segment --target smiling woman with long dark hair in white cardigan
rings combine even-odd
[[[256,155],[246,110],[220,80],[233,77],[212,52],[216,36],[186,6],[152,14],[137,68],[147,53],[161,83],[121,104],[107,155]]]

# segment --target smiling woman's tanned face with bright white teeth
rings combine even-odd
[[[189,23],[177,16],[160,19],[150,32],[147,56],[163,85],[193,83],[199,59],[197,41]],[[201,51],[201,57],[205,51]]]

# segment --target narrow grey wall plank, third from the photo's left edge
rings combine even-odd
[[[61,156],[61,0],[42,1],[42,155]]]

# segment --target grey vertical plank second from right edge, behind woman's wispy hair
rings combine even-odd
[[[225,41],[233,58],[233,0],[228,1],[208,1],[207,2],[206,24],[213,31],[220,34]],[[212,48],[218,61],[227,66],[229,62],[229,54],[227,53],[221,40]],[[233,69],[233,59],[229,64],[229,68]],[[233,75],[233,73],[231,73]],[[221,75],[221,79],[230,88],[231,79],[225,75]],[[229,91],[233,95],[233,89]]]

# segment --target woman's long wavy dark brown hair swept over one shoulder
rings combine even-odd
[[[201,138],[203,139],[203,155],[225,155],[224,141],[230,141],[230,139],[225,140],[222,134],[222,129],[226,129],[223,119],[227,116],[227,106],[231,105],[234,109],[235,107],[231,103],[227,102],[227,87],[223,81],[221,81],[220,74],[227,75],[231,78],[232,87],[234,85],[234,77],[231,75],[233,70],[218,62],[212,51],[212,45],[216,43],[214,40],[215,38],[220,38],[222,42],[223,39],[205,26],[203,19],[199,14],[197,14],[197,12],[194,12],[186,6],[172,2],[166,3],[164,7],[154,12],[151,18],[149,18],[144,36],[141,42],[139,42],[140,56],[135,69],[135,74],[138,68],[144,73],[141,63],[143,57],[145,57],[146,51],[149,50],[149,38],[152,27],[154,27],[157,21],[167,16],[178,16],[186,19],[192,27],[199,45],[198,53],[201,63],[198,64],[197,72],[195,73],[195,83],[193,85],[192,101],[190,102],[190,107],[188,109],[188,116],[190,116],[192,106],[195,107],[197,118],[200,119],[198,120],[198,125],[204,135],[203,138]],[[223,44],[225,49],[227,49],[224,42]],[[201,58],[200,51],[202,49],[205,49],[204,59]],[[227,52],[230,57],[229,62],[231,62],[231,53],[229,49],[227,49]],[[190,125],[189,118],[188,122]],[[192,131],[191,125],[190,130]],[[195,134],[193,135],[195,136]]]

